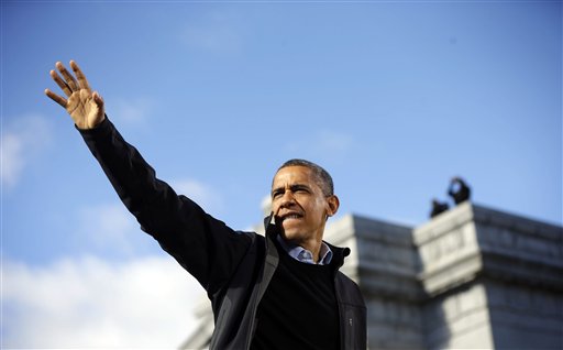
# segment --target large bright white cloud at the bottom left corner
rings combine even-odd
[[[177,348],[203,295],[172,258],[5,261],[2,348]]]

